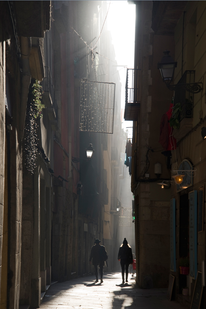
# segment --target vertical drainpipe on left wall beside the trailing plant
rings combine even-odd
[[[20,121],[19,121],[19,137],[22,141],[24,123],[27,111],[27,98],[29,85],[31,83],[31,72],[29,66],[29,38],[21,36],[21,52],[22,52],[22,88],[21,88],[21,105],[20,105]]]

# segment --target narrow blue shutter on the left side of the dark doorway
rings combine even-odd
[[[176,271],[175,198],[170,200],[170,270]]]

